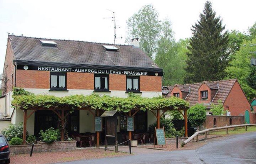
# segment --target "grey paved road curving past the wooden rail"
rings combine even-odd
[[[141,148],[142,150],[144,148]],[[159,151],[62,164],[256,164],[256,132],[211,140],[196,150]]]

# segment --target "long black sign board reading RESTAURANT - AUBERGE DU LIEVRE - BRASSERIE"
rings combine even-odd
[[[81,72],[94,74],[119,74],[119,75],[137,75],[137,76],[162,76],[161,71],[131,71],[131,70],[112,70],[112,69],[87,69],[75,67],[50,67],[50,66],[31,66],[18,65],[17,69],[36,70],[36,71],[55,71],[55,72]]]

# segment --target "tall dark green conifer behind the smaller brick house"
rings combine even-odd
[[[223,32],[220,16],[212,10],[212,3],[204,4],[200,20],[192,26],[190,38],[191,52],[187,53],[185,82],[201,82],[203,80],[220,80],[225,77],[225,68],[228,65],[228,33]]]

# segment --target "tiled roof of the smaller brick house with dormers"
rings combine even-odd
[[[226,100],[229,92],[231,91],[233,85],[235,84],[236,79],[231,79],[231,80],[220,80],[220,81],[215,81],[215,82],[202,82],[202,83],[196,83],[196,84],[184,84],[184,85],[178,85],[182,87],[189,87],[190,92],[186,97],[186,101],[190,103],[190,105],[196,105],[198,103],[198,89],[201,87],[203,83],[205,83],[209,88],[211,89],[218,89],[218,92],[212,99],[211,103],[218,104],[218,100],[221,100],[222,103]],[[169,90],[173,89],[173,86],[168,86]],[[179,87],[180,88],[180,87]],[[166,97],[171,96],[171,90]],[[210,104],[207,104],[209,106]]]

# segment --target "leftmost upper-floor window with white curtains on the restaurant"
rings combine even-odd
[[[66,90],[67,89],[67,73],[51,72],[50,73],[50,89]]]

